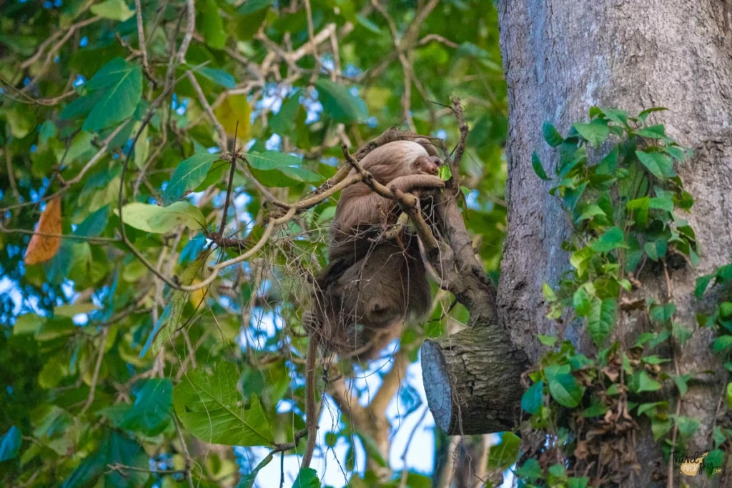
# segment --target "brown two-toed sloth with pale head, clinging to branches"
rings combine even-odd
[[[386,143],[360,164],[392,191],[412,192],[423,199],[427,190],[444,187],[436,176],[441,160],[429,143]],[[399,214],[395,200],[378,195],[364,182],[341,193],[329,258],[331,263],[353,264],[323,290],[316,290],[305,325],[342,357],[375,359],[400,337],[406,320],[423,318],[430,310],[430,285],[417,236],[402,230],[392,239],[384,238]]]

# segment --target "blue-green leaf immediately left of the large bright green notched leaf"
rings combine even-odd
[[[119,427],[154,436],[171,420],[173,383],[168,378],[150,378],[135,393],[135,403]]]

